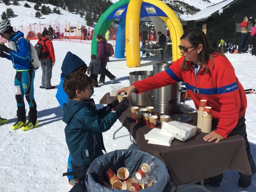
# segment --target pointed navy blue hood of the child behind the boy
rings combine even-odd
[[[61,66],[61,77],[66,77],[82,65],[85,65],[85,62],[79,58],[79,56],[71,53],[70,51],[67,52]]]

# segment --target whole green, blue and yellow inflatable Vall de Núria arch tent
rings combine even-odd
[[[161,31],[163,34],[166,34],[166,24],[172,38],[172,60],[176,61],[181,57],[178,46],[183,28],[175,12],[160,0],[120,0],[111,5],[101,15],[94,28],[91,54],[97,55],[96,35],[106,34],[114,20],[119,22],[115,56],[124,58],[126,47],[126,65],[128,67],[140,66],[140,21],[153,22],[156,32]],[[157,41],[158,39],[157,35]]]

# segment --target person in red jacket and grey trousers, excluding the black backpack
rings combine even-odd
[[[45,88],[47,90],[55,89],[55,86],[52,86],[51,84],[52,67],[55,64],[55,53],[54,53],[52,41],[47,41],[47,40],[50,40],[50,32],[47,30],[44,30],[42,36],[43,38],[41,40],[44,41],[45,43],[46,51],[48,55],[46,58],[40,59],[41,69],[43,71],[42,85],[40,86],[40,88]]]

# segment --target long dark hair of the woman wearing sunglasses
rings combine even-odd
[[[224,56],[226,58],[226,56],[221,51],[213,49],[210,46],[210,41],[208,40],[208,38],[206,37],[204,32],[199,28],[193,28],[193,29],[187,30],[181,36],[180,40],[182,40],[182,39],[189,41],[189,43],[192,46],[196,46],[196,45],[199,45],[199,44],[203,45],[203,49],[198,55],[198,61],[201,64],[206,66],[206,72],[205,73],[208,73],[210,71],[210,69],[207,65],[207,61],[208,61],[209,58],[212,61],[212,67],[214,66],[213,57],[216,57],[214,55],[221,55],[221,56]],[[182,65],[181,65],[181,70],[184,70],[184,69],[189,69],[189,67],[186,66],[186,61],[185,60],[183,61]]]

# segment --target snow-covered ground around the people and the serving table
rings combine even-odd
[[[36,44],[36,40],[32,44]],[[91,41],[90,41],[91,42]],[[87,42],[89,43],[89,41]],[[7,45],[7,44],[6,44]],[[52,85],[58,85],[61,74],[61,64],[68,51],[78,55],[85,63],[90,62],[90,44],[74,43],[69,41],[53,41],[56,63],[53,67]],[[255,57],[251,54],[227,54],[236,70],[236,75],[244,88],[256,88]],[[129,68],[125,59],[110,58],[108,69],[117,76],[114,85],[128,86],[126,77],[135,70],[152,70],[152,63],[142,61],[142,66]],[[154,61],[154,60],[153,60]],[[65,141],[64,127],[62,122],[62,108],[59,107],[55,98],[57,89],[40,89],[41,68],[36,71],[35,76],[35,101],[37,102],[39,125],[29,131],[21,129],[12,130],[11,126],[16,122],[16,101],[14,94],[15,70],[11,61],[0,58],[2,91],[0,92],[1,110],[0,116],[9,119],[9,122],[0,125],[0,191],[1,192],[67,192],[72,186],[68,184],[67,177],[62,173],[67,170],[68,148]],[[94,101],[99,100],[110,90],[110,79],[106,78],[105,84],[94,88]],[[245,115],[248,140],[251,151],[256,160],[256,94],[247,94],[248,107]],[[27,102],[26,107],[28,108]],[[186,104],[194,107],[192,101]],[[101,105],[97,106],[102,107]],[[114,126],[103,134],[104,143],[108,152],[116,149],[136,148],[130,142],[129,133],[122,128],[113,140],[113,133],[121,126],[117,121]],[[224,173],[224,179],[220,187],[207,186],[213,192],[255,192],[256,176],[252,177],[250,187],[242,189],[238,186],[239,174],[235,171]],[[187,190],[200,191],[200,190]]]

